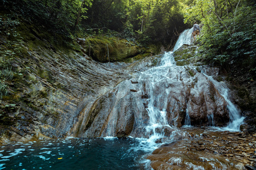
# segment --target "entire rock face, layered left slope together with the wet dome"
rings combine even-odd
[[[20,29],[30,32],[30,39],[20,42],[21,52],[11,62],[10,95],[1,99],[1,143],[68,136],[149,137],[155,130],[168,137],[170,126],[184,125],[187,115],[191,125],[208,126],[213,117],[217,126],[229,122],[224,97],[201,73],[217,75],[217,69],[156,70],[161,55],[100,63],[79,50],[56,49],[32,28]],[[167,116],[150,115],[155,111]],[[152,120],[168,126],[145,130]]]

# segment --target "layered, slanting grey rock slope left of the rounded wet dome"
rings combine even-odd
[[[16,57],[10,95],[1,100],[1,143],[67,137],[80,112],[131,76],[46,43]]]

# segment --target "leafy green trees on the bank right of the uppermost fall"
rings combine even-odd
[[[239,62],[256,73],[254,3],[245,0],[198,0],[185,14],[185,22],[192,19],[203,24],[200,43],[204,58],[225,69],[229,69],[230,63]]]

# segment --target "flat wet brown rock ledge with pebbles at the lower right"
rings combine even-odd
[[[165,144],[147,157],[153,169],[256,168],[256,134],[205,128],[183,130],[184,139]]]

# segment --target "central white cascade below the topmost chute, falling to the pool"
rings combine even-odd
[[[144,128],[146,130],[145,136],[148,137],[148,142],[155,143],[159,139],[164,138],[164,131],[175,130],[167,121],[167,100],[164,100],[168,95],[166,88],[161,88],[159,85],[165,80],[168,80],[168,71],[170,66],[176,65],[172,52],[167,52],[163,55],[159,67],[153,67],[150,70],[144,71],[139,76],[138,81],[146,84],[141,87],[141,91],[145,91],[150,96],[147,99],[147,114],[149,117],[148,125]],[[163,92],[159,92],[163,90]]]

